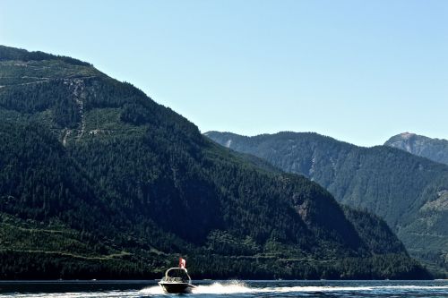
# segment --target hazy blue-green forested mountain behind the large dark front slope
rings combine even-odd
[[[374,212],[412,256],[435,270],[448,269],[448,166],[400,149],[362,148],[317,133],[205,135],[286,172],[305,175],[343,204]]]

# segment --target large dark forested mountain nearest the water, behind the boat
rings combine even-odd
[[[0,47],[0,277],[424,278],[382,219],[65,56]]]

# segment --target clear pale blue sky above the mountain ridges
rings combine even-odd
[[[89,61],[202,132],[448,139],[444,0],[2,0],[0,44]]]

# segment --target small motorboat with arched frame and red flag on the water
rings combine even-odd
[[[186,271],[185,260],[180,258],[179,267],[169,268],[165,272],[165,277],[159,281],[159,285],[165,293],[190,293],[194,285],[192,285],[192,279]]]

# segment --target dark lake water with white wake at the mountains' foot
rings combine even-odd
[[[0,281],[3,297],[448,297],[435,281],[194,281],[192,294],[163,294],[156,281]]]

